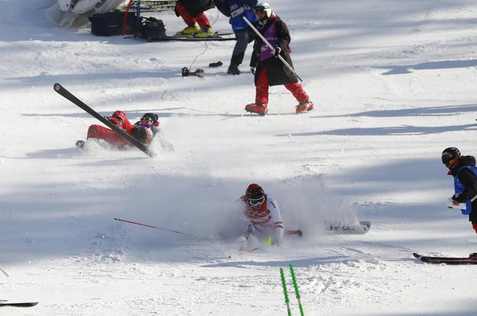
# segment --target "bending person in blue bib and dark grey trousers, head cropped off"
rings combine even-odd
[[[215,5],[220,12],[230,17],[229,23],[236,38],[227,74],[240,74],[238,66],[243,62],[248,43],[254,39],[254,33],[247,22],[243,20],[243,17],[246,17],[256,26],[257,16],[254,7],[257,5],[257,0],[215,0]]]

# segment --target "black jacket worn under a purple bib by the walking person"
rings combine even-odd
[[[271,24],[275,21],[276,36],[278,37],[278,46],[281,48],[280,55],[284,60],[293,67],[292,59],[288,53],[288,44],[290,43],[290,32],[285,22],[283,22],[277,15],[272,16],[267,20],[262,32],[265,32]],[[262,39],[255,36],[255,43],[253,44],[252,59],[250,60],[250,67],[257,67],[255,71],[255,82],[257,82],[258,75],[262,69],[267,70],[269,78],[269,85],[284,85],[286,83],[298,82],[297,76],[288,69],[288,67],[276,57],[270,57],[260,62],[260,46]]]

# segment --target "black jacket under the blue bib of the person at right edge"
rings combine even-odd
[[[464,168],[457,173],[460,167],[465,165],[476,165],[476,158],[473,156],[461,156],[459,158],[459,163],[450,170],[450,173],[454,177],[458,177],[459,181],[464,184],[465,190],[455,200],[462,203],[466,200],[470,200],[477,194],[477,177],[469,168]],[[472,202],[472,209],[477,209],[477,199]]]

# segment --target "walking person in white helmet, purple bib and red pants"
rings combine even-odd
[[[312,110],[313,103],[298,82],[297,76],[278,58],[278,55],[281,55],[293,67],[288,45],[290,32],[287,25],[271,11],[271,6],[267,2],[258,3],[255,6],[255,14],[259,21],[258,31],[274,50],[271,50],[260,36],[255,36],[250,60],[250,70],[255,74],[255,103],[247,104],[246,111],[260,116],[267,114],[270,85],[285,85],[285,88],[292,92],[293,97],[299,102],[296,107],[297,114]]]

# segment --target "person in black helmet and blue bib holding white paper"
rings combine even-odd
[[[454,177],[455,194],[452,204],[465,203],[466,209],[461,209],[462,215],[469,215],[472,228],[477,233],[477,168],[476,158],[461,156],[459,149],[449,147],[441,155],[442,163],[449,168],[448,174]]]

